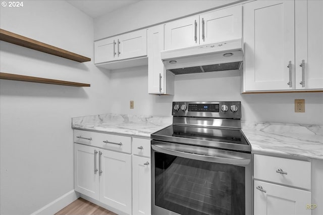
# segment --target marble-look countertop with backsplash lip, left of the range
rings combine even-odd
[[[150,138],[150,134],[172,125],[173,117],[101,114],[72,118],[72,128]]]

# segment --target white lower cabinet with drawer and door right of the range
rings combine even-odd
[[[254,214],[310,215],[311,162],[254,155]]]

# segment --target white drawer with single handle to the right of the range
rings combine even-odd
[[[311,189],[311,163],[255,154],[254,178]]]

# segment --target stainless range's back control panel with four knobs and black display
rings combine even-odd
[[[178,117],[241,119],[241,102],[174,101],[172,115]]]

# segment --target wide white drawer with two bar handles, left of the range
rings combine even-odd
[[[131,137],[121,135],[74,130],[74,142],[131,153]]]

